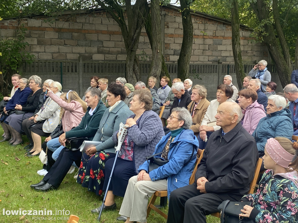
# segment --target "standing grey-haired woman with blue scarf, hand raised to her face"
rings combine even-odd
[[[260,60],[258,64],[254,65],[254,68],[248,73],[249,76],[259,79],[261,81],[261,89],[266,92],[266,86],[271,81],[271,74],[267,70],[267,61]]]

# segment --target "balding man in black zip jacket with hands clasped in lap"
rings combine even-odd
[[[240,200],[249,190],[258,159],[256,142],[240,123],[238,104],[221,103],[217,112],[221,129],[209,137],[195,183],[171,193],[168,223],[206,222],[205,215],[217,212],[221,202]]]

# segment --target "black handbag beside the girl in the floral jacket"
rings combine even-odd
[[[240,201],[223,201],[217,208],[218,212],[221,213],[221,223],[255,223],[253,219],[247,217],[241,217],[239,214],[241,209],[245,205],[251,206],[251,202],[240,202]]]

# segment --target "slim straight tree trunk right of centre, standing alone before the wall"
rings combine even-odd
[[[240,48],[240,19],[239,19],[239,11],[238,11],[238,1],[232,0],[231,7],[231,19],[232,19],[232,49],[233,49],[233,57],[235,62],[235,71],[237,77],[237,84],[239,89],[241,88],[243,83],[243,78],[245,77],[243,63],[242,63],[242,55]]]

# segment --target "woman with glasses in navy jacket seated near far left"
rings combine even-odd
[[[18,105],[23,106],[26,104],[28,96],[32,92],[32,90],[29,87],[27,87],[28,82],[29,81],[26,78],[21,78],[20,80],[18,80],[18,90],[15,92],[13,97],[7,102],[6,106],[3,109],[3,112],[5,114],[10,114],[10,112],[16,109]],[[15,131],[13,130],[12,127],[8,125],[8,121],[11,120],[10,118],[9,119],[8,118],[9,116],[5,118],[1,116],[1,122],[2,122],[1,126],[5,133],[5,140],[9,139],[9,136],[11,136],[9,143],[13,145],[18,145],[22,142],[21,137],[18,136],[18,139],[17,139],[17,136],[15,135]]]

